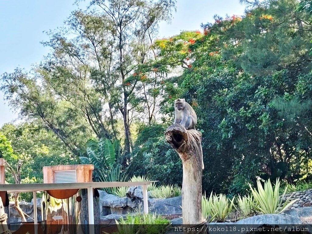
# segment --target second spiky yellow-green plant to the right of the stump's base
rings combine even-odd
[[[222,193],[212,196],[211,213],[215,214],[215,218],[218,221],[224,221],[230,215],[235,207],[234,199],[235,197],[230,200]]]

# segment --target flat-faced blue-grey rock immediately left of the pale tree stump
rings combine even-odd
[[[149,199],[149,212],[159,215],[181,215],[182,197]]]

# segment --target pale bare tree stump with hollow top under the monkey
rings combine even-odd
[[[181,124],[173,124],[165,135],[182,160],[183,224],[201,224],[205,221],[202,216],[202,133],[195,129],[187,130]]]

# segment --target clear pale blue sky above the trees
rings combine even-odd
[[[1,0],[0,1],[0,75],[16,67],[30,70],[40,63],[49,48],[43,31],[62,27],[70,13],[77,9],[74,0]],[[84,7],[85,2],[80,4]],[[162,22],[159,38],[178,34],[182,30],[200,30],[201,23],[213,21],[213,15],[242,15],[245,6],[239,0],[177,0],[177,12],[171,24]],[[3,100],[0,91],[0,126],[12,122],[17,113]]]

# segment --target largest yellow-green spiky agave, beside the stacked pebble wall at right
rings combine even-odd
[[[283,199],[287,192],[288,185],[286,186],[284,193],[280,196],[280,179],[276,179],[275,188],[273,189],[270,179],[264,182],[264,187],[262,187],[261,182],[257,181],[258,191],[251,187],[252,195],[255,199],[255,208],[262,214],[276,214],[285,211],[288,207],[294,204],[298,199],[290,201],[290,197],[282,205]]]

